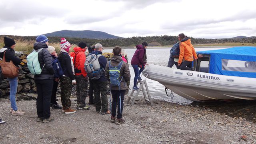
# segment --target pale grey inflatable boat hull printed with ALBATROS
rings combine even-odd
[[[150,65],[144,76],[193,101],[256,100],[256,78],[223,76]]]

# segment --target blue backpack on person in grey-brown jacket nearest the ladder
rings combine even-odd
[[[120,82],[122,81],[123,77],[120,80],[120,69],[122,67],[123,61],[121,61],[118,66],[114,67],[111,66],[110,61],[108,62],[109,66],[109,79],[111,86],[120,86]]]

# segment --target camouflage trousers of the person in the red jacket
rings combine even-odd
[[[79,108],[86,106],[85,99],[88,94],[88,77],[76,76],[76,101]]]

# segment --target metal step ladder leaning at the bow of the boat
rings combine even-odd
[[[148,77],[148,74],[146,75],[146,78],[145,78],[144,80],[142,80],[142,81],[141,81],[141,80],[138,80],[138,81],[137,81],[136,86],[140,83],[140,88],[139,88],[138,91],[136,92],[136,94],[135,94],[135,96],[134,96],[134,98],[133,98],[133,100],[132,100],[132,104],[131,104],[131,105],[134,104],[135,100],[137,100],[138,95],[140,94],[140,91],[142,91],[142,92],[143,92],[143,95],[144,95],[145,101],[148,102],[148,103],[150,103],[150,106],[153,106],[153,102],[152,102],[152,100],[151,100],[150,92],[149,92],[149,90],[148,90],[148,85],[147,85],[147,82],[146,82],[147,77]],[[148,95],[146,95],[144,86],[145,86],[145,88],[146,88],[146,92],[147,92]],[[129,96],[129,98],[128,98],[128,102],[129,102],[130,99],[132,98],[132,96],[133,96],[133,94],[134,94],[134,91],[135,91],[135,90],[132,90],[132,92],[131,92],[131,94],[130,94],[130,96]]]

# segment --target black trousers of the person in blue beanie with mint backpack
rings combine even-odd
[[[37,89],[36,112],[38,118],[50,118],[50,103],[52,96],[52,80],[35,80]]]

